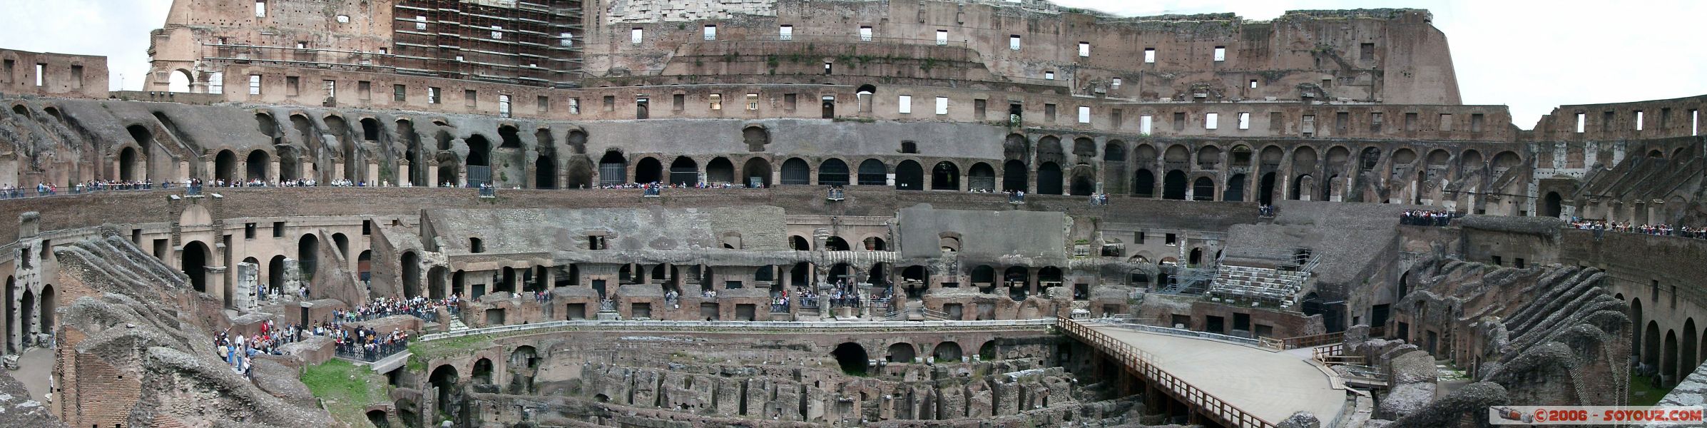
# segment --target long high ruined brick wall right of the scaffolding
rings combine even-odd
[[[606,12],[592,15],[604,31],[589,32],[591,77],[676,73],[666,70],[681,61],[673,56],[727,41],[770,43],[782,58],[809,56],[804,63],[814,70],[804,75],[833,63],[835,75],[889,77],[894,67],[857,67],[912,65],[920,53],[847,55],[835,46],[910,44],[944,51],[927,55],[934,61],[971,49],[1000,80],[1058,85],[1074,94],[1461,102],[1446,38],[1429,24],[1425,10],[1302,10],[1273,22],[1244,22],[1231,14],[1121,19],[963,2],[591,2],[589,10]],[[707,32],[708,26],[715,29]],[[789,29],[787,41],[782,27]],[[831,53],[821,51],[826,48]],[[678,68],[722,70],[717,58],[695,56],[688,63],[696,67]],[[772,72],[790,73],[782,63]],[[923,68],[930,75],[932,67]]]

